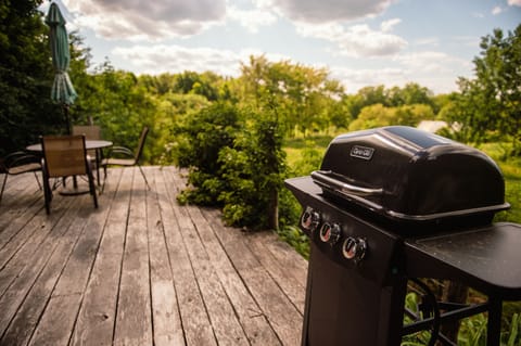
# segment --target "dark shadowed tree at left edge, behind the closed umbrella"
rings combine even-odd
[[[41,0],[0,1],[0,156],[64,129]]]

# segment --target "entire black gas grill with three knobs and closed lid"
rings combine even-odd
[[[384,127],[335,138],[320,170],[287,187],[312,241],[303,345],[399,345],[422,329],[434,344],[442,323],[482,311],[488,345],[498,345],[500,302],[521,299],[521,226],[492,225],[509,205],[488,156]],[[404,326],[407,282],[417,278],[461,281],[488,302],[447,313],[433,302],[431,317]]]

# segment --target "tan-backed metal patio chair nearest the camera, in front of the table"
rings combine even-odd
[[[86,176],[89,193],[92,195],[94,208],[98,208],[98,196],[92,175],[92,163],[85,149],[85,136],[46,136],[41,137],[43,151],[42,176],[43,195],[47,214],[50,213],[52,190],[51,178]]]

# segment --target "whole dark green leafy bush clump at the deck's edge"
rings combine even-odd
[[[285,171],[282,130],[270,110],[245,115],[217,103],[175,128],[177,161],[190,167],[191,185],[178,201],[221,206],[230,225],[277,229]]]

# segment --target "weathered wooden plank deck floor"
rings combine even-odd
[[[298,345],[307,261],[180,206],[175,167],[109,171],[100,207],[30,174],[0,204],[0,345]],[[0,176],[3,179],[3,176]]]

